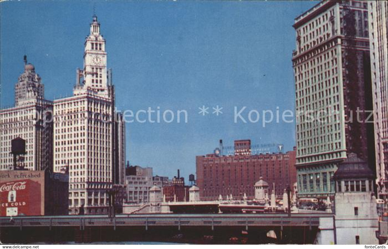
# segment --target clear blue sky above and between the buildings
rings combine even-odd
[[[248,111],[294,110],[294,18],[317,2],[2,2],[1,105],[14,103],[23,55],[45,97],[72,94],[95,5],[120,110],[187,110],[188,123],[126,125],[126,158],[165,176],[195,173],[223,139],[295,145],[294,123],[234,123]],[[198,114],[222,106],[223,114]]]

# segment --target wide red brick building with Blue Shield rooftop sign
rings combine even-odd
[[[219,195],[225,199],[230,194],[234,199],[241,199],[244,193],[253,199],[253,185],[260,176],[269,184],[269,193],[272,193],[273,183],[276,195],[283,195],[287,186],[293,189],[292,185],[296,183],[295,147],[286,153],[251,155],[250,140],[237,140],[234,144],[234,155],[196,157],[201,200],[218,199]]]

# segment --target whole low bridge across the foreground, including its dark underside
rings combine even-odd
[[[334,231],[333,214],[130,214],[1,217],[1,240],[16,242],[313,243]],[[273,232],[270,232],[273,231]],[[268,232],[271,236],[268,237]]]

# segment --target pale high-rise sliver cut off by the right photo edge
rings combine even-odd
[[[385,199],[388,192],[388,2],[370,1],[368,5],[376,176],[378,196]]]

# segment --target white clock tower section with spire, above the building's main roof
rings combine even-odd
[[[77,84],[74,88],[74,95],[93,91],[100,96],[107,97],[109,95],[108,73],[105,39],[100,34],[100,23],[97,21],[97,16],[94,15],[90,24],[90,34],[85,40],[83,70],[77,69]],[[81,78],[83,78],[83,82],[80,82]]]

